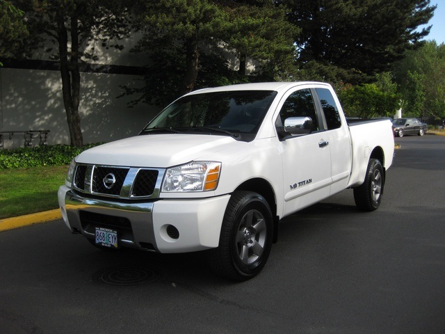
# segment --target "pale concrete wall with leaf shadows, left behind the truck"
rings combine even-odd
[[[159,112],[140,104],[129,108],[134,97],[117,98],[120,86],[136,83],[138,76],[81,73],[81,128],[83,143],[114,141],[138,134]],[[48,143],[69,144],[70,134],[63,106],[60,72],[0,68],[0,131],[17,132],[49,129]],[[4,148],[24,145],[23,134],[13,139],[3,134]],[[38,140],[34,140],[35,145]]]

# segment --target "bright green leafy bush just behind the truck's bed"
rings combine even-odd
[[[397,85],[391,81],[389,73],[380,74],[372,84],[341,86],[339,99],[349,117],[373,118],[394,117],[400,108],[400,95]]]

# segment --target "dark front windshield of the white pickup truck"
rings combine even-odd
[[[143,132],[256,134],[277,92],[237,90],[181,97],[156,116]],[[213,130],[213,131],[212,131]]]

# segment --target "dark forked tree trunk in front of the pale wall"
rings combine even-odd
[[[68,128],[70,129],[70,143],[80,148],[83,145],[81,131],[81,117],[79,115],[79,39],[77,36],[77,17],[71,17],[72,54],[68,60],[68,33],[63,15],[57,17],[58,49],[60,55],[60,75],[62,77],[62,94]]]

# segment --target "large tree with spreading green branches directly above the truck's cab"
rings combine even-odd
[[[249,81],[247,58],[258,62],[261,78],[270,79],[284,68],[278,64],[293,61],[298,30],[286,21],[284,8],[270,1],[142,3],[144,37],[134,51],[146,51],[150,63],[145,87],[126,88],[142,94],[134,103],[165,104],[195,88]],[[232,58],[239,61],[238,73],[229,68]]]

